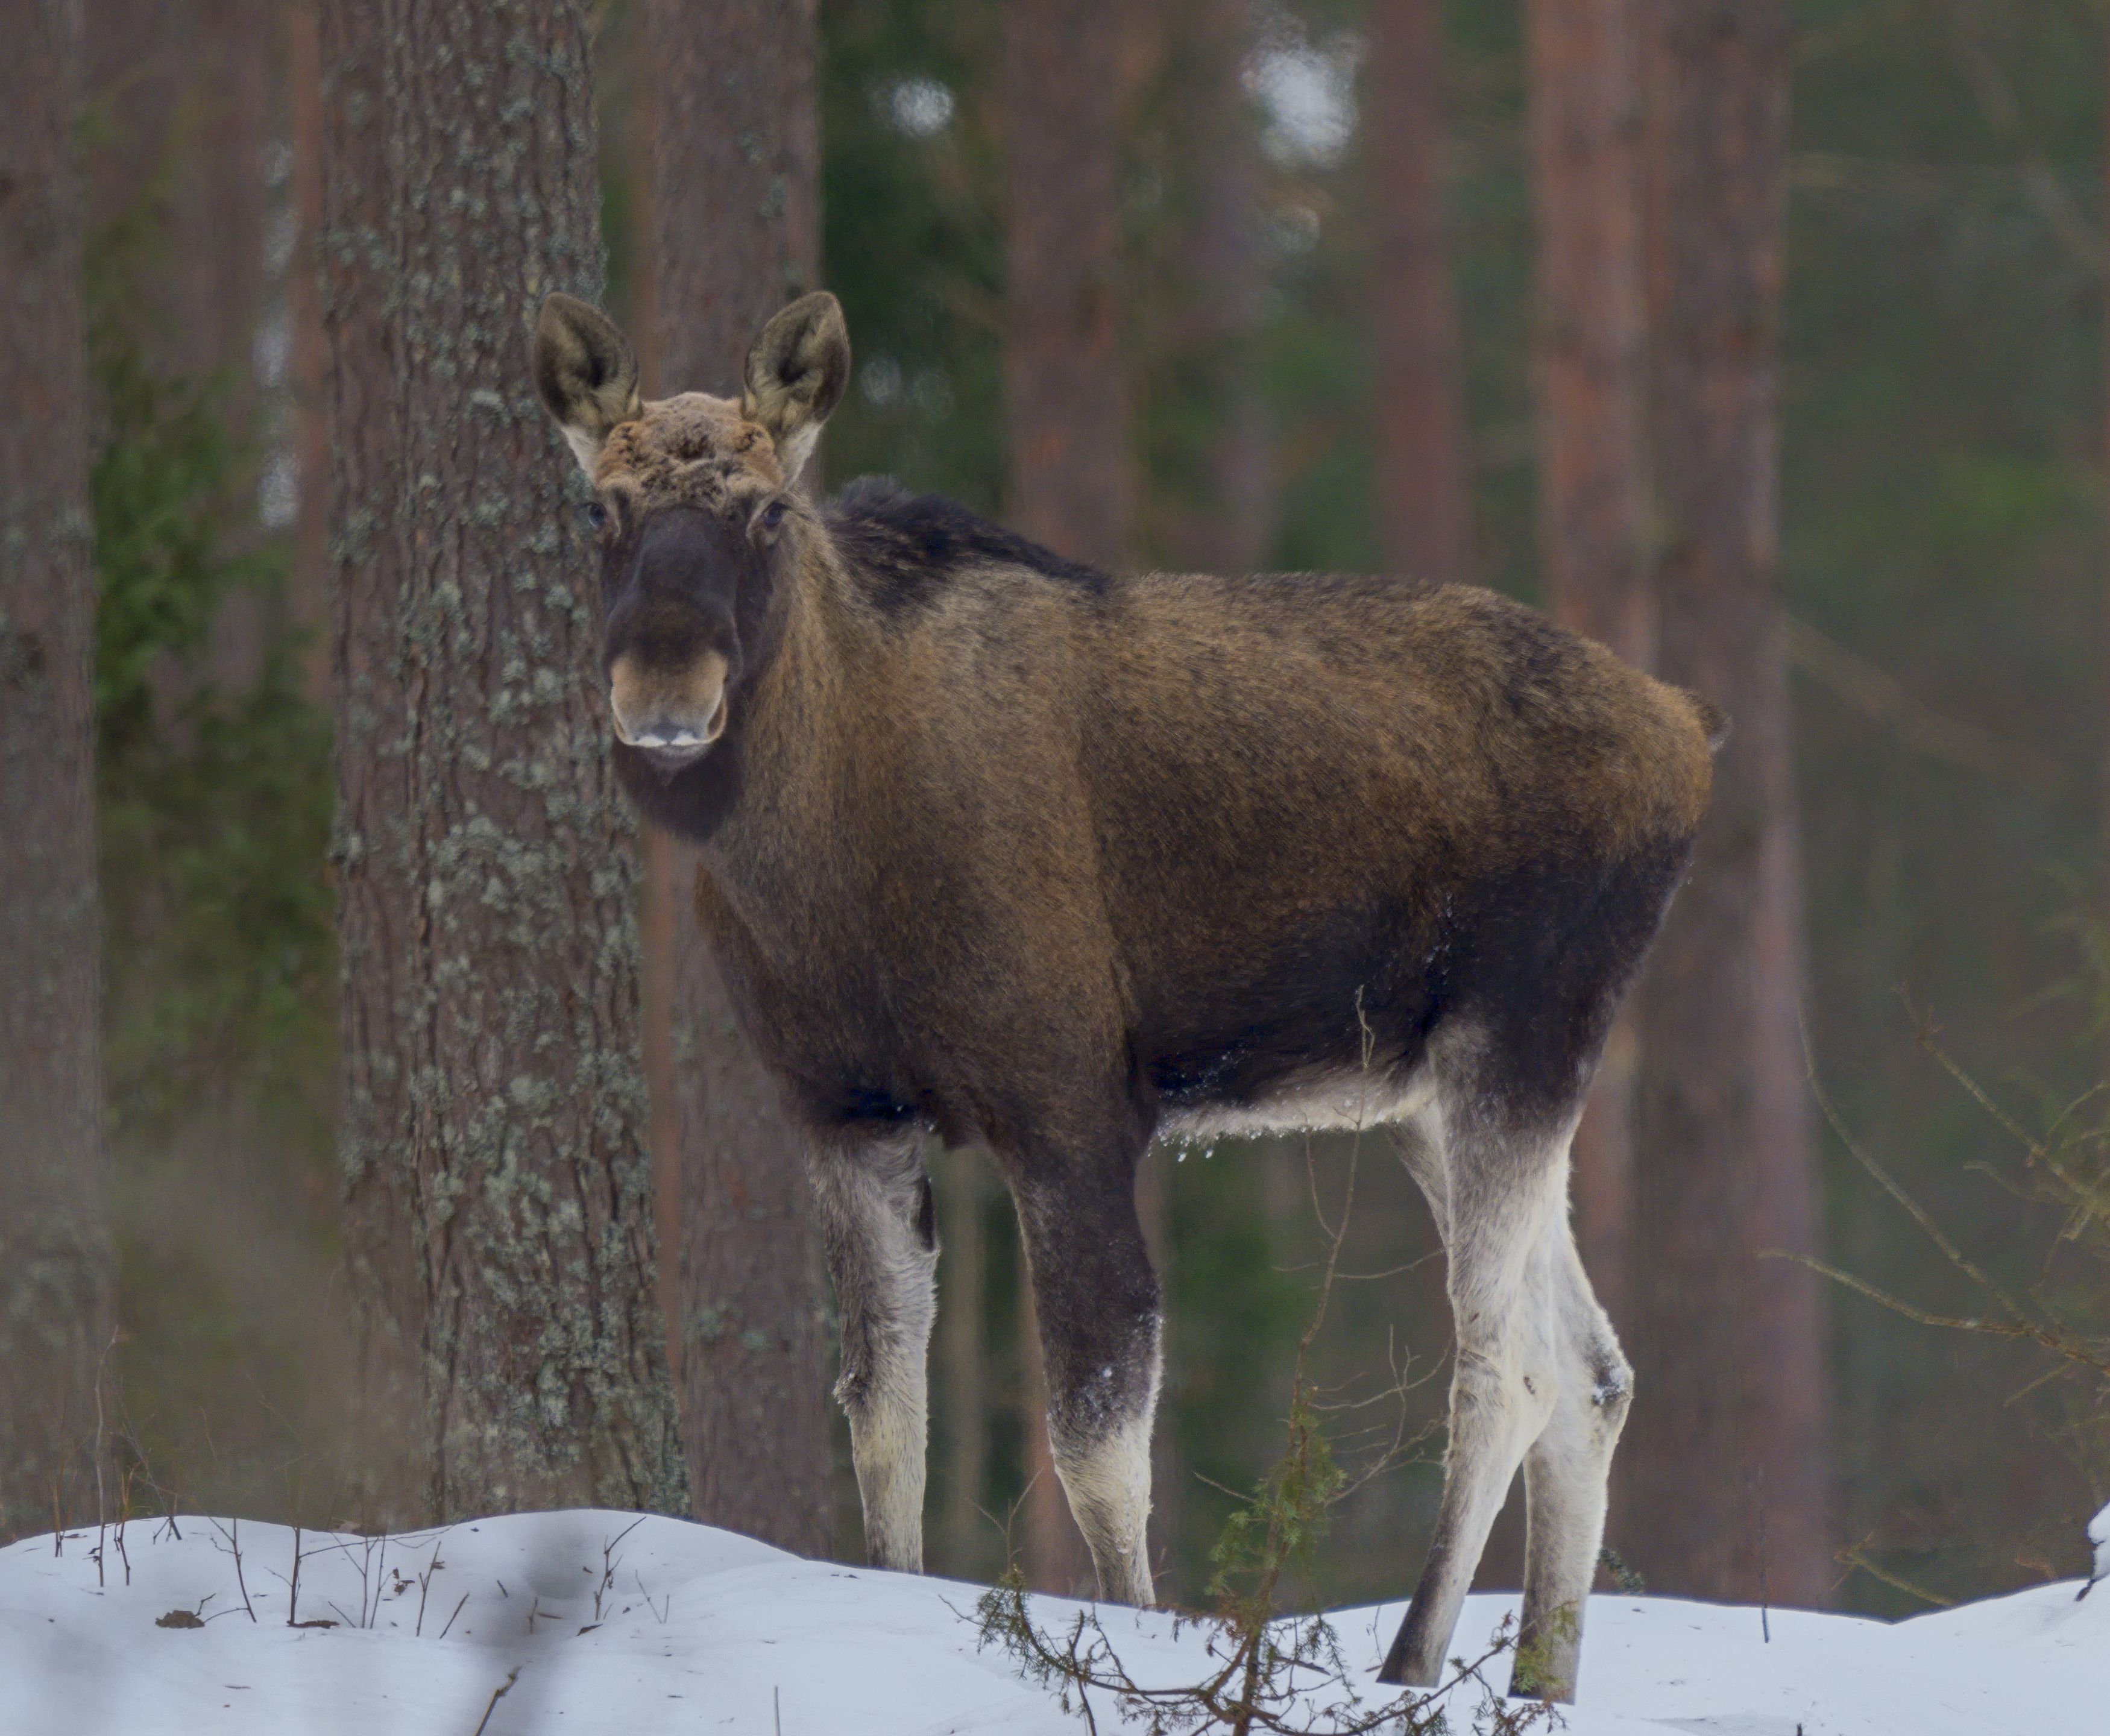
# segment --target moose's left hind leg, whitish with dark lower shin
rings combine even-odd
[[[1450,1301],[1458,1337],[1443,1502],[1407,1618],[1380,1681],[1435,1687],[1488,1531],[1526,1447],[1551,1415],[1545,1221],[1557,1211],[1561,1143],[1445,1131]]]

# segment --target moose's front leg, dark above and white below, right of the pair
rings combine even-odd
[[[1135,1166],[1080,1183],[1015,1181],[1049,1384],[1049,1447],[1099,1597],[1148,1607],[1150,1428],[1158,1280],[1135,1217]]]

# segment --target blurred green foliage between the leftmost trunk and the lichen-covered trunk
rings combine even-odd
[[[84,262],[112,1105],[152,1129],[249,1091],[312,1122],[333,1031],[329,719],[302,692],[228,382],[152,359],[162,234],[154,184]],[[234,597],[264,622],[262,671],[224,694],[205,654]]]

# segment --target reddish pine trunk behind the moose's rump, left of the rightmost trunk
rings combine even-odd
[[[1642,669],[1656,654],[1648,546],[1648,306],[1637,0],[1530,0],[1538,551],[1547,603]],[[1635,1021],[1623,1017],[1574,1143],[1574,1221],[1597,1299],[1627,1318]]]

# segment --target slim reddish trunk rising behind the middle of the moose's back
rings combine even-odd
[[[1443,6],[1369,8],[1378,546],[1386,567],[1471,578],[1458,297],[1443,217]]]

